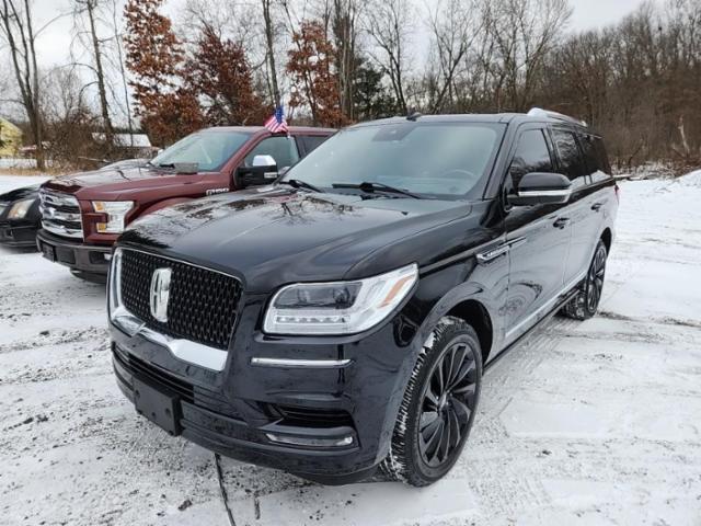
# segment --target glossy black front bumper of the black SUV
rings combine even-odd
[[[366,478],[389,453],[415,359],[402,339],[402,316],[354,339],[292,340],[256,332],[264,302],[249,298],[246,304],[221,371],[179,359],[165,346],[111,325],[122,391],[135,402],[136,378],[173,396],[179,433],[222,455],[327,484]],[[254,365],[256,357],[344,365],[261,366]],[[300,437],[311,442],[302,445]]]

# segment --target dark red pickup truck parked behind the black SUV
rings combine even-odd
[[[335,133],[290,127],[217,127],[188,135],[139,167],[47,181],[39,191],[45,258],[104,282],[112,244],[135,219],[205,195],[267,184]]]

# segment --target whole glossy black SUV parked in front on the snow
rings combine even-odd
[[[618,187],[563,115],[352,126],[271,186],[139,219],[110,279],[117,381],[173,435],[324,483],[414,485],[468,438],[484,366],[597,310]]]

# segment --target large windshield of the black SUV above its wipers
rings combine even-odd
[[[486,123],[400,123],[348,128],[295,165],[297,179],[333,185],[379,183],[427,197],[481,192],[504,127]]]

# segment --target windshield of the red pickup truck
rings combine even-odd
[[[179,140],[151,160],[151,164],[171,167],[176,162],[196,162],[198,171],[214,172],[233,156],[251,134],[241,132],[197,132]]]

